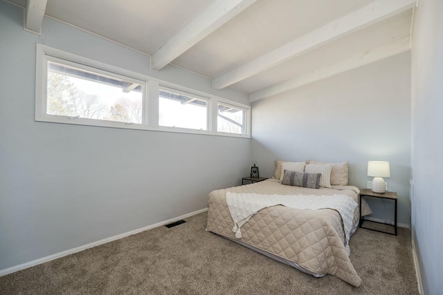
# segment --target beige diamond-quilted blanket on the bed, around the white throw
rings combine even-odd
[[[226,192],[262,195],[334,195],[349,196],[359,202],[359,189],[333,186],[331,189],[306,189],[282,185],[278,180],[212,191],[208,199],[208,231],[235,239],[233,218],[226,203]],[[363,206],[362,211],[365,209]],[[359,220],[359,206],[353,224]],[[235,239],[237,240],[237,239]],[[242,226],[247,245],[284,258],[314,274],[332,274],[359,287],[356,273],[345,248],[345,233],[340,214],[332,209],[301,210],[281,205],[258,211]]]

